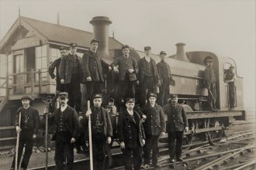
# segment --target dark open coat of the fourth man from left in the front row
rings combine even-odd
[[[143,147],[143,139],[145,139],[144,128],[140,121],[140,114],[137,111],[133,110],[133,116],[136,123],[130,118],[127,110],[123,110],[119,114],[118,123],[117,123],[117,136],[120,142],[124,142],[125,146],[129,148],[130,145],[133,145],[133,142],[137,142],[132,138],[130,124],[136,124],[138,129],[138,135],[140,140],[140,146]]]

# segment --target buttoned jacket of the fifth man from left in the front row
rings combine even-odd
[[[151,107],[150,104],[146,104],[141,111],[147,116],[143,123],[145,134],[160,135],[161,132],[165,132],[166,124],[161,106],[155,104],[154,107]]]

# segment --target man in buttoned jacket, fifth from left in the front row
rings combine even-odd
[[[149,94],[149,104],[141,108],[141,112],[146,114],[147,119],[143,123],[146,135],[146,144],[144,146],[144,167],[148,169],[150,166],[150,152],[152,150],[152,165],[154,168],[159,168],[161,165],[157,164],[158,158],[158,140],[159,136],[165,134],[165,120],[162,107],[156,104],[157,95],[155,93]]]

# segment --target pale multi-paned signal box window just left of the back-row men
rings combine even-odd
[[[47,46],[36,47],[36,71],[41,70],[42,81],[47,81]],[[36,74],[36,81],[39,80],[39,75]]]

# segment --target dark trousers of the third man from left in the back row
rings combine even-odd
[[[92,95],[95,93],[102,94],[102,82],[100,81],[88,81],[86,83],[86,90],[88,98],[87,100],[92,100]]]

